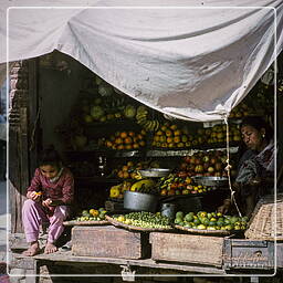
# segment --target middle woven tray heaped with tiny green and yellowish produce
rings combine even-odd
[[[161,216],[160,212],[137,211],[127,214],[106,216],[106,219],[114,226],[129,230],[165,231],[172,229],[170,219]]]

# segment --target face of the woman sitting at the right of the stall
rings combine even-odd
[[[242,126],[241,128],[243,143],[252,150],[261,148],[263,138],[262,133],[252,126]]]

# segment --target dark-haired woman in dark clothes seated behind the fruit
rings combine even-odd
[[[233,190],[241,213],[250,217],[260,197],[274,187],[273,129],[263,118],[251,116],[242,120],[241,134],[248,150],[239,161]],[[227,213],[230,209],[231,199],[227,198],[218,211]]]

